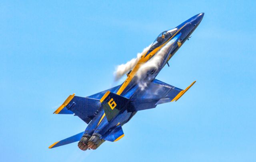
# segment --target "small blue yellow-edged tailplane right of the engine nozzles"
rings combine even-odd
[[[102,139],[110,142],[116,142],[124,137],[124,132],[120,124],[116,126],[108,135],[103,136]]]

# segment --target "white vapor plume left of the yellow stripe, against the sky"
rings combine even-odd
[[[138,53],[136,58],[133,58],[132,60],[126,62],[126,64],[120,64],[116,67],[116,71],[114,72],[114,79],[115,81],[119,80],[122,78],[124,74],[127,74],[130,70],[134,68],[134,66],[137,64],[137,62],[140,60],[141,56],[146,53],[151,45],[148,47],[144,48],[142,53]]]

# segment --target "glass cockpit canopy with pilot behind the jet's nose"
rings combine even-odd
[[[177,31],[177,28],[174,28],[174,29],[170,29],[168,31],[164,31],[160,33],[156,38],[156,40],[154,41],[154,43],[152,43],[146,55],[148,55],[151,51],[153,51],[154,49],[156,49],[157,47],[159,47],[160,45],[168,41],[170,37],[172,37],[176,33],[176,31]]]

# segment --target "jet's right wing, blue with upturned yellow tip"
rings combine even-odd
[[[166,84],[155,79],[144,90],[138,89],[131,98],[131,106],[128,111],[151,109],[158,104],[177,101],[195,83],[194,81],[185,90]]]

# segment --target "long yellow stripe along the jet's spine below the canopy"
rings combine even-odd
[[[185,24],[186,25],[186,24]],[[170,41],[185,25],[183,25],[172,37],[170,37],[170,39],[168,41]],[[138,61],[138,63],[136,64],[136,66],[132,69],[132,71],[130,72],[129,76],[126,78],[126,80],[124,81],[124,83],[122,84],[122,86],[119,88],[118,92],[116,94],[120,95],[122,94],[122,92],[124,91],[124,89],[128,86],[128,84],[131,82],[132,78],[135,76],[136,72],[139,70],[140,66],[147,62],[148,59],[150,59],[150,57],[152,57],[154,54],[156,54],[156,52],[161,49],[166,43],[168,43],[168,41],[166,41],[164,44],[160,45],[159,47],[157,47],[156,49],[154,49],[150,55],[147,55],[147,57],[144,57],[144,55],[146,55],[146,53],[148,51],[146,51],[143,55],[142,58]]]

